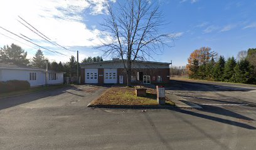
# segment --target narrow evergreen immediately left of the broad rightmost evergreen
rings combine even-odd
[[[235,58],[233,56],[232,58],[228,58],[224,68],[224,74],[223,74],[224,81],[235,82],[234,68],[236,65],[237,65],[237,62],[235,61]]]

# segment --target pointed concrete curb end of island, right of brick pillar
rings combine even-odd
[[[174,94],[166,93],[166,97],[175,103],[177,108],[189,108],[189,109],[203,109],[201,106],[191,103],[180,96],[176,96]]]

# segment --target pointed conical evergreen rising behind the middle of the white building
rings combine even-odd
[[[35,57],[33,57],[31,64],[35,68],[45,68],[46,66],[46,59],[45,56],[43,56],[43,52],[38,49],[38,51],[35,54]]]

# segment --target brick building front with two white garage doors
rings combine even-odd
[[[169,82],[169,64],[152,61],[132,63],[132,80],[137,81],[137,72],[143,72],[143,84],[166,84]],[[127,84],[127,73],[120,59],[82,63],[81,84]]]

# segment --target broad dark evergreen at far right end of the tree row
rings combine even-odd
[[[237,83],[249,83],[255,82],[255,74],[253,73],[253,66],[247,61],[247,59],[241,60],[235,66],[235,81]]]

